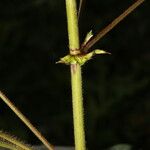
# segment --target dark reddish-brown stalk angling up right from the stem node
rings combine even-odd
[[[99,41],[104,35],[111,31],[119,22],[121,22],[125,17],[127,17],[133,10],[135,10],[144,0],[137,0],[128,9],[126,9],[120,16],[114,19],[109,25],[107,25],[103,30],[101,30],[96,36],[92,37],[86,45],[82,45],[80,51],[87,52],[97,41]]]

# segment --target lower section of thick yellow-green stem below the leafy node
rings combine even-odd
[[[81,76],[81,67],[79,64],[71,65],[71,83],[72,83],[75,149],[85,150],[86,146],[84,133],[82,76]]]

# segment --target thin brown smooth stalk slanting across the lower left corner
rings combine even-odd
[[[21,113],[21,111],[1,91],[0,91],[0,98],[8,105],[8,107],[21,119],[21,121],[36,135],[36,137],[49,150],[53,150],[53,146],[45,139],[45,137],[30,123],[30,121]]]

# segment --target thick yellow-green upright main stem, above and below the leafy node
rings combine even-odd
[[[75,0],[66,0],[69,48],[71,55],[77,55],[79,50],[78,18]],[[78,63],[71,64],[71,85],[74,120],[75,149],[85,150],[84,132],[84,109],[82,94],[82,74],[81,66]]]

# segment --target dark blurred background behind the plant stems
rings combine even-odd
[[[81,41],[97,33],[134,0],[87,0]],[[87,145],[91,150],[128,143],[150,149],[150,2],[146,1],[94,47],[83,67]],[[65,0],[0,1],[0,90],[54,145],[73,145]],[[0,129],[40,144],[0,102]]]

